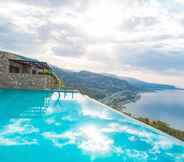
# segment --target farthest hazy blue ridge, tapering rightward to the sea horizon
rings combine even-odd
[[[168,85],[168,84],[149,83],[149,82],[144,82],[144,81],[141,81],[141,80],[138,80],[135,78],[118,77],[118,76],[112,75],[112,74],[103,74],[103,75],[125,80],[129,83],[129,85],[135,87],[138,91],[155,91],[155,90],[177,89],[175,86]]]

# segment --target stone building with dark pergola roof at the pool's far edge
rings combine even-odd
[[[58,89],[63,81],[46,62],[0,51],[0,88]]]

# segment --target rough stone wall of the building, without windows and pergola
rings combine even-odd
[[[0,51],[0,88],[57,89],[59,79],[54,75],[10,73],[9,59],[19,59],[12,53]]]

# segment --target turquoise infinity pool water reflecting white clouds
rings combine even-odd
[[[184,144],[80,94],[0,90],[0,162],[184,162]]]

